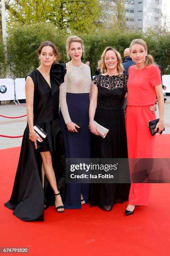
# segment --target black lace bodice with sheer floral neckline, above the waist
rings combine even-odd
[[[125,93],[127,92],[128,75],[121,77],[102,75],[96,76],[93,84],[97,85],[97,108],[120,109],[122,108]]]

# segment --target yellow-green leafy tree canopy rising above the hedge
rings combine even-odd
[[[11,0],[9,26],[53,23],[62,31],[89,32],[100,16],[100,0]]]

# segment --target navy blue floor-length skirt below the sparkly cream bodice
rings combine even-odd
[[[69,132],[60,110],[60,125],[64,137],[66,158],[90,158],[89,93],[68,93],[67,107],[72,122],[81,125],[81,132]],[[81,193],[89,202],[89,184],[66,185],[65,209],[81,209]]]

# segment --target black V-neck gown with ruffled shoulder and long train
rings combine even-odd
[[[28,76],[34,82],[34,124],[47,133],[43,142],[37,141],[37,150],[25,128],[17,173],[11,198],[5,206],[25,221],[43,220],[44,204],[54,205],[54,195],[45,177],[42,187],[42,159],[40,151],[50,151],[52,166],[62,200],[65,194],[65,148],[59,122],[59,86],[64,82],[65,68],[55,64],[50,70],[51,88],[42,74],[34,69]]]

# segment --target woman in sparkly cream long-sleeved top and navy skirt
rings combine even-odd
[[[71,61],[66,63],[67,74],[60,86],[60,125],[66,158],[90,158],[90,67],[81,62],[84,46],[80,38],[70,36],[66,44]],[[67,184],[65,209],[81,209],[85,202],[89,202],[89,184]]]

